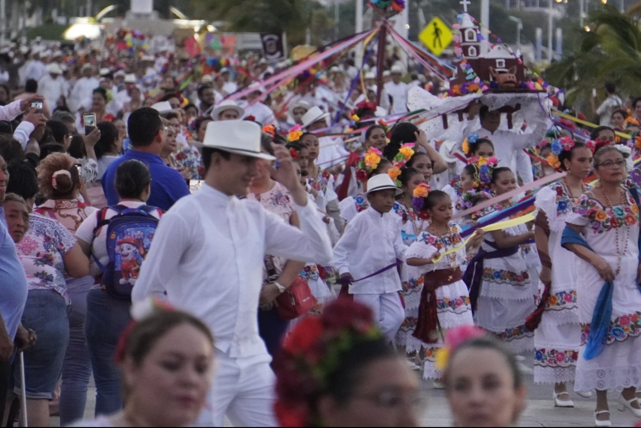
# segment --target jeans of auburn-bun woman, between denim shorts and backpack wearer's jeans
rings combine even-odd
[[[91,377],[91,361],[85,343],[85,315],[87,293],[94,284],[94,277],[67,279],[67,292],[71,299],[69,311],[69,346],[62,362],[62,388],[60,389],[60,425],[66,426],[83,418],[87,404],[87,387]]]

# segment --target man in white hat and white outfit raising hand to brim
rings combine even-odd
[[[271,357],[256,317],[263,257],[331,261],[324,224],[285,147],[274,145],[279,167],[273,177],[290,191],[300,229],[258,202],[238,199],[256,176],[256,160],[276,159],[260,151],[260,133],[258,124],[242,120],[207,126],[201,149],[205,184],[160,220],[131,294],[133,302],[150,294],[167,299],[212,329],[220,366],[199,418],[203,426],[221,427],[225,414],[237,427],[276,426]]]

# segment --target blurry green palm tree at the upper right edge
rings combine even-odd
[[[617,92],[641,93],[641,29],[631,13],[621,13],[606,4],[590,12],[579,46],[545,71],[549,83],[565,88],[570,104],[588,99],[592,88],[601,89],[606,80]]]

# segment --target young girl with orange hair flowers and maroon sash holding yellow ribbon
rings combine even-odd
[[[435,357],[443,347],[445,332],[458,325],[474,325],[461,266],[467,261],[467,249],[480,245],[483,233],[479,230],[469,242],[463,242],[462,229],[451,222],[452,200],[445,192],[434,190],[426,197],[417,195],[414,202],[415,209],[430,222],[410,246],[406,261],[408,266],[417,267],[424,278],[412,336],[425,359],[423,378],[438,381],[441,373],[435,367]],[[439,386],[438,382],[435,386]]]

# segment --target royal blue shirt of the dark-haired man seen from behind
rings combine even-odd
[[[147,165],[151,173],[151,195],[149,195],[149,200],[146,202],[147,205],[157,206],[161,210],[167,211],[178,199],[189,194],[185,178],[175,169],[167,167],[160,156],[153,153],[128,150],[120,158],[110,163],[101,180],[108,204],[115,205],[120,200],[113,182],[119,165],[130,159],[141,161]]]

